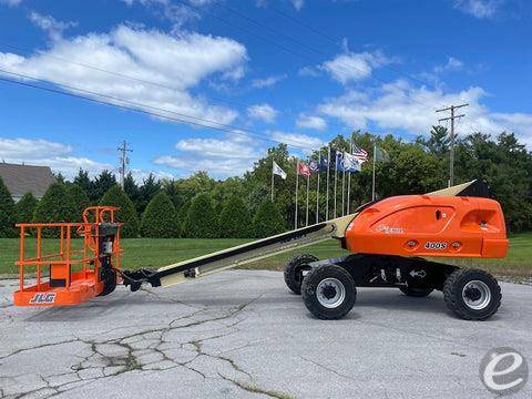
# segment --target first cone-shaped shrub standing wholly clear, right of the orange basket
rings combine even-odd
[[[170,238],[180,233],[177,213],[168,195],[161,191],[150,201],[142,214],[141,235],[143,237]]]

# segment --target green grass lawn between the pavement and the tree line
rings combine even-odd
[[[28,243],[33,243],[29,239]],[[156,239],[130,238],[122,241],[124,248],[124,268],[156,268],[180,260],[193,258],[211,252],[245,243],[245,239]],[[81,246],[81,239],[73,241],[73,246]],[[44,250],[53,250],[55,239],[44,241]],[[28,248],[28,255],[33,248]],[[337,241],[328,241],[314,246],[298,249],[297,253],[311,253],[318,258],[329,258],[347,254],[340,249]],[[0,238],[0,275],[17,274],[13,263],[18,259],[19,241],[17,238]],[[282,270],[285,263],[295,253],[280,254],[266,258],[246,268]],[[459,266],[482,267],[495,275],[532,277],[532,233],[523,233],[510,237],[510,250],[505,259],[448,259]],[[446,262],[441,259],[440,262]]]

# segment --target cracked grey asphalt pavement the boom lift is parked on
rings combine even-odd
[[[317,320],[276,272],[231,270],[72,308],[10,304],[0,282],[0,396],[63,398],[490,398],[479,364],[510,346],[532,368],[532,287],[503,284],[489,321],[442,295],[361,288]],[[516,397],[532,397],[532,381]]]

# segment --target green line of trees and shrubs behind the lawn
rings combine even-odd
[[[419,136],[412,142],[391,134],[378,136],[356,131],[347,137],[337,135],[329,145],[337,151],[348,151],[350,140],[367,150],[370,157],[360,172],[351,174],[351,212],[371,200],[374,144],[390,156],[390,162],[377,163],[378,197],[420,194],[448,185],[449,134],[444,127],[433,126],[428,137]],[[319,153],[325,156],[327,147],[319,149]],[[317,156],[315,151],[303,161]],[[276,176],[274,203],[269,201],[273,161],[287,173],[286,180]],[[121,208],[119,218],[126,223],[123,232],[126,237],[265,237],[294,228],[296,164],[297,158],[289,155],[288,147],[279,144],[270,147],[266,156],[239,177],[218,181],[206,172],[198,172],[173,181],[158,181],[150,175],[137,184],[129,174],[123,191],[109,171],[91,178],[86,171],[80,170],[71,182],[59,176],[58,184],[52,185],[40,202],[27,194],[18,204],[9,203],[9,193],[0,184],[0,236],[12,234],[6,226],[12,226],[13,221],[79,221],[86,205],[105,204]],[[329,167],[331,217],[334,162]],[[319,193],[317,176],[310,177],[310,223],[325,219],[325,176],[321,173]],[[456,184],[485,180],[503,207],[509,229],[532,229],[532,153],[513,133],[501,133],[497,137],[472,133],[459,139],[454,176]],[[305,180],[299,184],[298,197],[306,198]],[[337,215],[341,214],[340,204],[341,191],[338,190]],[[300,226],[305,219],[305,201],[299,202],[298,216]]]

